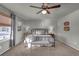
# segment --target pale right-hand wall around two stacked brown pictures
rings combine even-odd
[[[70,31],[64,31],[64,22],[70,22]],[[79,50],[79,10],[58,21],[58,40]]]

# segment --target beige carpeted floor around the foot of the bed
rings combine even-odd
[[[2,54],[2,56],[79,56],[79,51],[58,41],[56,41],[55,48],[33,47],[32,50],[21,43]]]

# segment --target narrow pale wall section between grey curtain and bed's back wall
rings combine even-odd
[[[20,42],[22,42],[24,39],[23,39],[23,23],[20,21],[22,20],[21,18],[19,17],[16,17],[16,32],[15,32],[15,45],[19,44]],[[18,31],[18,26],[21,26],[21,31]]]

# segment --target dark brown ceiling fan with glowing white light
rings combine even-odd
[[[61,5],[58,4],[58,5],[54,5],[54,6],[48,6],[47,3],[43,3],[41,5],[41,7],[33,6],[33,5],[31,5],[30,7],[41,9],[40,11],[37,12],[37,14],[39,14],[39,13],[42,13],[42,14],[50,14],[49,9],[59,8],[59,7],[61,7]]]

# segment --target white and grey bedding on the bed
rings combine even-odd
[[[29,48],[32,44],[51,44],[53,42],[54,38],[51,35],[28,35],[24,40]]]

